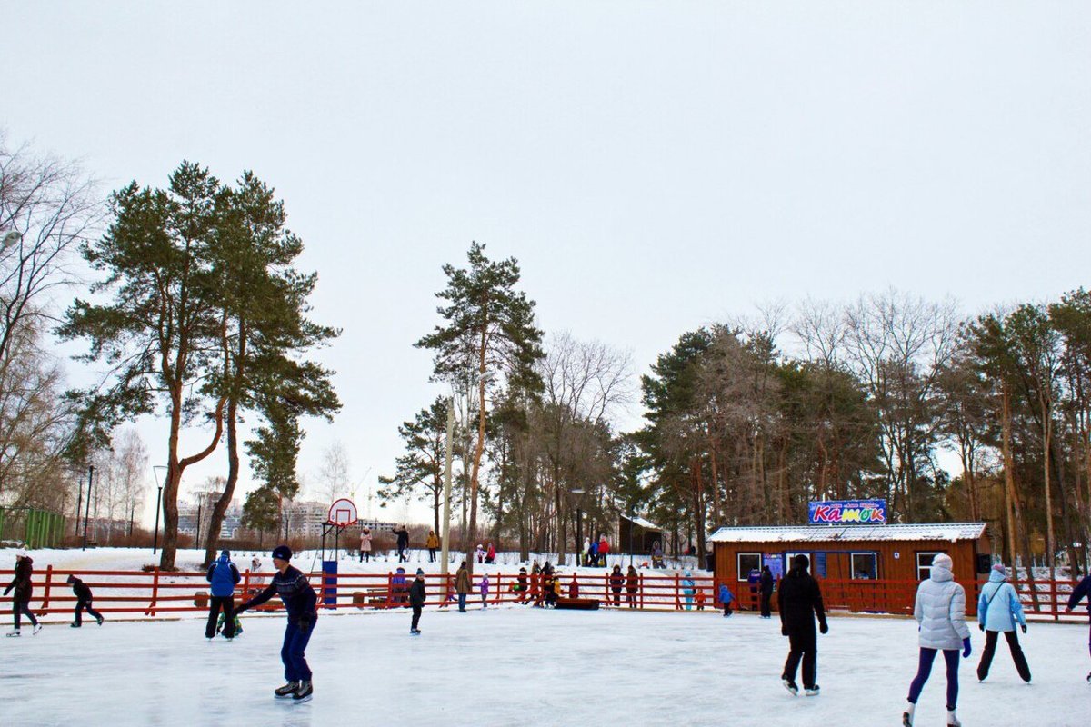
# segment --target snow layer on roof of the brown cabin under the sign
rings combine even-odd
[[[985,533],[983,522],[912,525],[783,525],[720,528],[712,543],[814,543],[816,541],[967,541]]]

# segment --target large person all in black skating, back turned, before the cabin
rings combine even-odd
[[[803,689],[807,696],[817,696],[818,684],[815,683],[816,655],[818,653],[818,637],[815,634],[815,616],[818,617],[823,633],[829,631],[826,625],[826,609],[822,605],[822,592],[818,581],[811,578],[807,567],[811,561],[805,555],[792,559],[792,568],[780,581],[777,603],[780,606],[780,633],[788,637],[790,651],[784,662],[784,673],[781,675],[784,688],[792,694],[799,694],[795,684],[795,669],[803,658]]]

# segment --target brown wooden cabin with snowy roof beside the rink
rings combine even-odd
[[[858,611],[912,611],[916,584],[931,573],[937,553],[951,557],[968,601],[992,565],[983,522],[721,528],[709,542],[716,582],[727,583],[746,607],[756,604],[752,584],[762,567],[779,580],[801,553],[811,560],[811,574],[826,581],[827,607]]]

